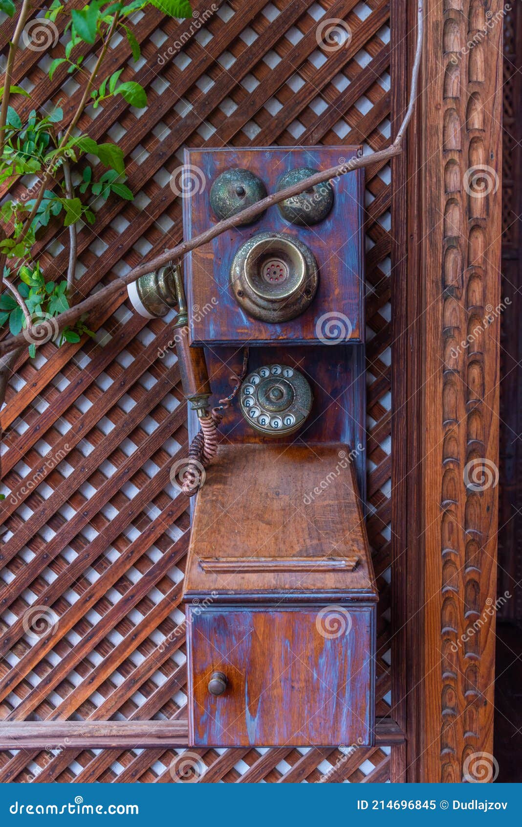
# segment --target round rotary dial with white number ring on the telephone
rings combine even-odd
[[[269,437],[297,431],[310,414],[310,385],[288,365],[263,365],[241,385],[241,413],[252,428]]]

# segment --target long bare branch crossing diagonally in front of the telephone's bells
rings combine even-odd
[[[185,256],[187,252],[195,250],[197,247],[200,247],[203,244],[207,244],[209,241],[212,241],[212,239],[216,238],[217,236],[220,236],[222,232],[229,230],[231,227],[236,227],[238,224],[241,224],[243,222],[248,223],[251,219],[255,218],[256,215],[259,215],[259,213],[263,213],[264,210],[268,209],[268,207],[273,207],[274,204],[284,201],[286,198],[292,198],[292,196],[294,195],[299,195],[306,189],[311,189],[311,187],[315,186],[316,184],[321,184],[323,181],[335,179],[338,178],[340,175],[344,175],[351,172],[352,170],[360,170],[367,166],[377,165],[380,164],[382,161],[390,160],[396,155],[401,155],[403,151],[403,138],[406,133],[406,128],[410,123],[411,115],[415,108],[415,99],[417,95],[417,87],[420,72],[420,57],[422,54],[424,36],[423,8],[423,0],[418,0],[417,44],[415,49],[415,60],[411,74],[410,98],[408,108],[406,109],[406,115],[401,123],[399,131],[397,132],[395,140],[391,143],[390,146],[387,146],[387,148],[384,150],[373,152],[370,155],[354,157],[349,161],[345,162],[344,164],[331,167],[330,170],[322,170],[320,172],[316,172],[315,174],[311,175],[310,178],[302,180],[299,184],[293,184],[291,187],[282,189],[278,193],[268,195],[261,201],[252,204],[250,207],[242,210],[235,216],[232,216],[232,218],[226,218],[224,221],[220,221],[217,224],[215,224],[214,227],[209,227],[207,230],[200,233],[199,236],[191,238],[188,241],[182,241],[180,244],[173,247],[171,250],[166,250],[163,253],[160,253],[159,256],[155,256],[153,259],[145,261],[144,264],[135,267],[133,270],[131,270],[130,273],[127,273],[127,275],[123,278],[113,281],[111,284],[108,284],[107,287],[104,287],[101,290],[99,290],[96,294],[89,296],[88,299],[84,299],[83,302],[79,302],[77,305],[75,305],[74,308],[69,308],[69,310],[66,310],[64,313],[60,313],[59,316],[56,316],[55,322],[58,324],[59,331],[63,330],[64,327],[68,327],[69,325],[74,324],[78,320],[78,318],[80,318],[80,316],[82,316],[84,313],[90,313],[94,308],[97,308],[99,305],[107,303],[107,301],[109,299],[113,299],[116,296],[116,294],[118,294],[118,292],[120,292],[121,294],[126,292],[126,285],[131,284],[131,282],[139,279],[141,275],[145,275],[147,273],[152,272],[153,270],[157,270],[159,267],[168,264],[169,261],[178,261],[182,258],[182,256]],[[3,342],[0,342],[0,356],[2,356],[2,354],[4,353],[12,351],[13,348],[18,347],[25,341],[26,338],[23,334],[18,334],[18,336],[13,336],[5,339]]]

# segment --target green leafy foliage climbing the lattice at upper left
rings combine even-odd
[[[70,13],[59,0],[53,0],[45,17],[55,22],[59,16],[67,15],[64,32],[69,32],[64,57],[53,60],[48,74],[53,79],[60,65],[67,65],[67,72],[82,72],[85,54],[82,46],[91,46],[101,41],[96,63],[83,85],[78,107],[67,127],[61,131],[59,123],[64,113],[55,108],[50,114],[32,110],[26,121],[22,121],[15,108],[10,106],[12,94],[29,97],[24,88],[12,85],[12,68],[18,43],[31,11],[29,0],[23,0],[17,26],[9,44],[7,70],[2,86],[2,107],[0,109],[0,184],[13,181],[17,176],[39,175],[39,186],[31,198],[7,200],[0,208],[0,327],[7,325],[12,336],[25,331],[38,320],[54,318],[69,310],[70,291],[74,280],[76,263],[76,227],[78,222],[93,224],[96,213],[93,201],[107,200],[110,195],[131,200],[133,194],[125,184],[124,157],[120,147],[112,143],[97,143],[93,138],[78,134],[77,126],[88,104],[97,108],[110,98],[120,95],[126,103],[136,108],[145,108],[145,89],[135,81],[121,79],[123,69],[118,69],[106,78],[99,79],[107,49],[116,31],[126,36],[134,60],[140,58],[140,45],[131,27],[131,16],[147,5],[158,7],[173,17],[190,17],[192,8],[187,0],[133,0],[133,2],[105,2],[92,0],[83,8]],[[13,16],[16,7],[12,0],[0,0],[0,10]],[[97,158],[107,168],[95,178],[92,161],[83,165],[81,177],[78,171],[71,172],[71,165],[78,163],[82,156]],[[63,173],[60,174],[60,173]],[[76,175],[76,184],[73,176]],[[75,187],[77,191],[75,191]],[[30,193],[31,194],[31,190]],[[87,201],[83,197],[87,197]],[[40,270],[39,261],[34,261],[32,247],[36,234],[47,227],[51,219],[60,218],[63,226],[69,228],[69,267],[67,280],[46,281]],[[8,261],[9,266],[3,262]],[[7,288],[3,293],[2,284]],[[58,328],[57,328],[58,329]],[[83,335],[93,336],[85,324],[85,318],[78,318],[69,327],[64,327],[55,341],[79,342]],[[30,337],[27,337],[31,341]],[[34,356],[36,344],[29,347]],[[9,354],[12,356],[12,354]],[[5,358],[5,357],[4,357]],[[4,363],[0,362],[0,396],[5,390]],[[1,401],[0,401],[1,404]]]

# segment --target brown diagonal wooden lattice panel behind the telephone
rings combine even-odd
[[[83,2],[72,0],[69,7]],[[138,14],[142,58],[112,43],[102,74],[147,88],[149,108],[121,98],[81,126],[117,141],[134,202],[109,198],[78,235],[78,291],[87,295],[182,237],[176,181],[184,146],[346,145],[371,152],[390,135],[387,2],[194,2],[176,22]],[[38,12],[41,14],[42,12]],[[204,24],[200,25],[202,20]],[[325,25],[350,32],[322,41]],[[325,23],[328,22],[328,23]],[[2,45],[13,22],[0,26]],[[63,26],[62,26],[63,28]],[[60,30],[61,35],[61,30]],[[97,45],[93,46],[93,55]],[[47,53],[24,49],[13,82],[37,103],[78,104],[63,67],[50,83]],[[93,60],[93,57],[91,58]],[[23,99],[19,110],[34,104]],[[17,181],[15,197],[34,182]],[[377,715],[390,709],[391,175],[367,173],[368,533],[380,590]],[[38,244],[45,275],[66,269],[66,236],[50,223]],[[170,481],[186,456],[186,411],[171,345],[172,317],[145,323],[113,299],[94,314],[96,340],[51,342],[17,363],[2,409],[0,690],[2,719],[176,719],[185,714],[179,609],[187,501]],[[44,617],[40,621],[39,614]],[[390,749],[192,750],[67,748],[4,752],[2,781],[171,782],[183,761],[204,782],[387,781]],[[180,770],[181,767],[181,770]],[[182,780],[184,777],[182,777]]]

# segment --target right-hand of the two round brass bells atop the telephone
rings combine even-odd
[[[292,184],[299,184],[319,170],[312,170],[311,167],[297,167],[289,170],[278,180],[277,191],[291,187]],[[297,224],[299,227],[310,227],[323,221],[334,203],[334,189],[330,181],[323,181],[315,184],[304,193],[293,195],[292,198],[285,198],[278,204],[282,218]]]

